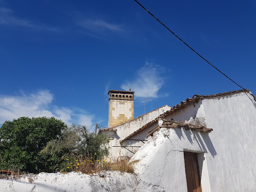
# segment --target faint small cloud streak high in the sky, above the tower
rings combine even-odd
[[[104,32],[106,30],[120,32],[122,28],[120,25],[107,23],[101,19],[85,19],[78,23],[85,29],[95,31],[95,32]]]

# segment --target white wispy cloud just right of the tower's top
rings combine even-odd
[[[163,69],[161,66],[154,66],[146,62],[145,66],[136,72],[134,81],[127,80],[121,85],[123,90],[135,91],[136,97],[158,98],[158,91],[164,84]]]

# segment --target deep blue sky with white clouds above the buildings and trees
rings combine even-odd
[[[140,0],[256,93],[256,2]],[[194,94],[239,90],[133,0],[0,0],[0,125],[54,116],[107,126],[109,89],[135,91],[135,117]],[[151,111],[146,102],[145,111]]]

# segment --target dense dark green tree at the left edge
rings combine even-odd
[[[40,155],[40,151],[49,141],[60,138],[65,128],[67,125],[54,117],[20,117],[4,122],[0,128],[1,169],[49,171],[54,159]]]

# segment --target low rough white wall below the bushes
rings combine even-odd
[[[136,175],[106,171],[101,176],[39,173],[0,179],[2,192],[139,192]]]

